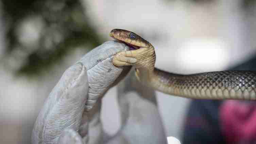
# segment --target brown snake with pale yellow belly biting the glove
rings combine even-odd
[[[171,73],[155,68],[155,48],[134,32],[113,29],[109,36],[130,47],[129,51],[117,53],[112,63],[117,67],[135,66],[135,75],[145,86],[187,98],[256,100],[256,71]]]

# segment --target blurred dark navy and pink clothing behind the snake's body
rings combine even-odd
[[[256,71],[256,57],[232,70]],[[256,144],[256,102],[193,100],[182,144]]]

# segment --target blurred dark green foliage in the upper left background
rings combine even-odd
[[[2,0],[2,9],[5,59],[15,57],[14,62],[21,64],[19,74],[39,73],[74,48],[94,48],[103,42],[79,0]],[[29,23],[38,30],[36,38],[31,35],[34,41],[23,36]]]

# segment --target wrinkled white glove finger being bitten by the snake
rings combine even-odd
[[[79,60],[87,68],[89,82],[85,111],[93,108],[98,98],[103,96],[123,71],[123,67],[118,68],[113,65],[112,59],[114,55],[129,49],[124,43],[107,41],[88,52]]]

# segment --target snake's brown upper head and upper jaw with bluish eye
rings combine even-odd
[[[110,31],[109,36],[126,43],[131,50],[140,48],[153,48],[152,44],[149,43],[147,40],[144,40],[142,37],[135,34],[134,32],[130,32],[127,30],[113,29],[112,31]]]

